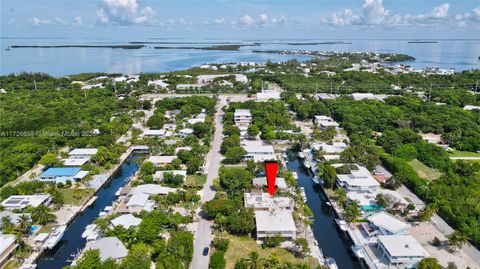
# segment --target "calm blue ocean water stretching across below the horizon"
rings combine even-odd
[[[111,48],[10,48],[12,45],[123,45],[130,41],[162,42],[142,49]],[[435,43],[409,43],[411,40],[212,40],[212,39],[0,39],[0,74],[44,72],[54,76],[82,72],[166,72],[203,63],[278,62],[306,60],[306,56],[256,53],[253,50],[318,50],[404,53],[415,61],[414,68],[438,67],[457,71],[479,69],[480,39],[435,40]],[[252,44],[239,51],[194,49],[154,49],[154,46],[211,46],[219,43]],[[345,44],[289,45],[288,43],[345,42]]]

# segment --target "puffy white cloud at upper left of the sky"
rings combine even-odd
[[[102,0],[96,12],[100,24],[154,24],[157,16],[151,7],[138,10],[137,0]]]

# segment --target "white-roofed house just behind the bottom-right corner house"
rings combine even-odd
[[[377,228],[382,235],[405,235],[410,229],[410,224],[384,211],[373,214],[367,219],[370,225]]]

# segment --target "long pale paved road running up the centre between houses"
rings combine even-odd
[[[212,149],[207,154],[207,162],[205,164],[207,171],[207,182],[203,186],[202,190],[202,203],[210,201],[215,197],[215,188],[213,187],[213,179],[218,177],[218,170],[222,161],[222,155],[220,154],[220,145],[222,144],[222,132],[223,132],[223,110],[222,107],[226,104],[225,97],[220,98],[220,102],[217,104],[217,112],[215,113],[215,134],[213,137]],[[203,211],[198,212],[200,222],[198,223],[195,233],[193,259],[190,264],[191,269],[207,269],[209,257],[203,256],[203,248],[209,247],[210,242],[213,239],[212,235],[212,221],[208,221],[204,218]]]

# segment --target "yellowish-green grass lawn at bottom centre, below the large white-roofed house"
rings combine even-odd
[[[228,244],[227,253],[225,253],[225,260],[227,261],[226,268],[233,268],[235,262],[240,258],[246,258],[252,251],[256,251],[261,258],[268,258],[271,253],[275,253],[280,258],[280,262],[291,263],[308,263],[312,268],[318,265],[318,261],[312,257],[306,259],[298,259],[283,248],[266,248],[263,249],[259,244],[250,237],[229,236],[230,244]]]

